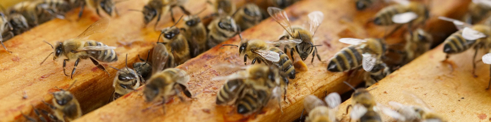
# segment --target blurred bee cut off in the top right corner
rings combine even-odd
[[[491,3],[488,0],[472,0],[467,8],[464,21],[469,24],[475,24],[490,15]]]

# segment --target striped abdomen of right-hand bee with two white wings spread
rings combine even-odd
[[[355,69],[361,66],[361,56],[363,51],[357,45],[351,45],[341,49],[327,65],[327,70],[331,72],[342,72]]]

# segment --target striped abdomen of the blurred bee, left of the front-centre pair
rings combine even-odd
[[[243,80],[234,79],[228,80],[223,84],[220,91],[217,94],[217,104],[224,104],[231,102],[237,98],[239,92],[244,88]]]

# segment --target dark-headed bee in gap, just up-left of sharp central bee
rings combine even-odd
[[[220,16],[208,24],[207,48],[210,49],[239,33],[240,27],[230,16]]]

